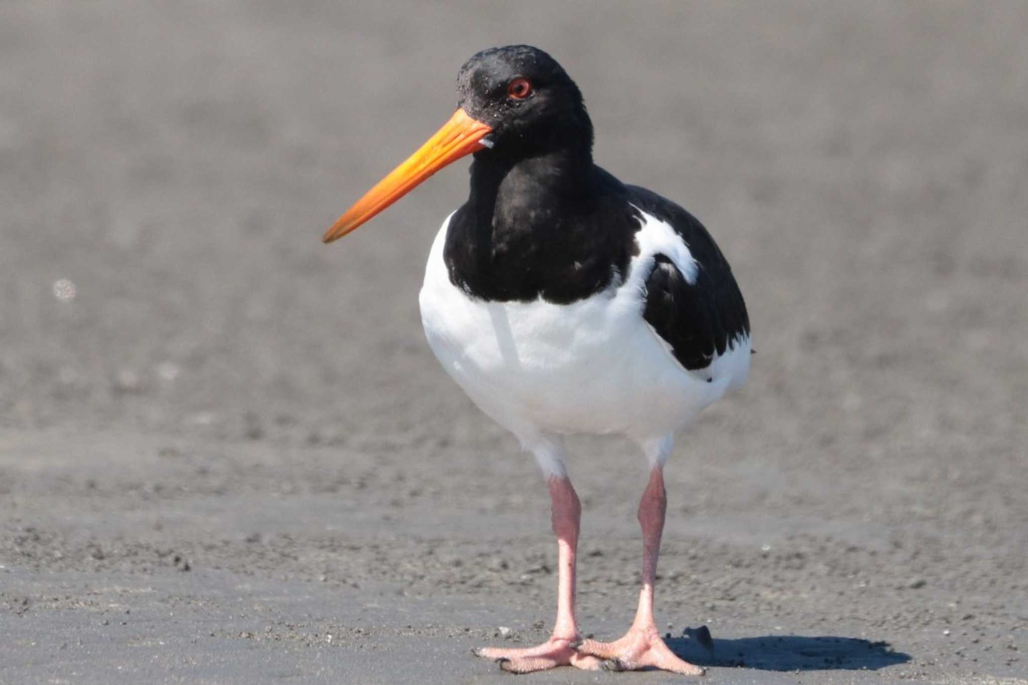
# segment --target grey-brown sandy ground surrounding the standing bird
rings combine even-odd
[[[1028,5],[366,4],[0,7],[0,682],[511,682],[469,649],[545,636],[548,498],[416,304],[465,165],[319,238],[515,41],[749,303],[748,386],[667,474],[673,647],[1028,682]],[[572,446],[613,638],[644,462]]]

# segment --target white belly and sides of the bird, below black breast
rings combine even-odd
[[[443,261],[449,218],[443,222],[420,292],[426,336],[472,400],[522,442],[541,431],[658,438],[745,380],[748,337],[706,369],[688,371],[642,318],[656,252],[676,253],[680,268],[695,268],[678,263],[691,255],[671,227],[646,219],[627,278],[572,304],[468,296],[449,280]]]

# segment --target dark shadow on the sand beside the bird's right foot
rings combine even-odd
[[[859,638],[769,635],[711,639],[707,627],[686,628],[665,640],[680,657],[700,666],[743,666],[762,671],[877,671],[910,661],[887,642]]]

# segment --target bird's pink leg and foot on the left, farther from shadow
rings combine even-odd
[[[575,553],[582,505],[566,477],[551,477],[548,484],[553,503],[553,533],[557,536],[557,620],[553,625],[553,635],[536,647],[483,647],[476,649],[475,654],[495,659],[500,661],[500,668],[512,673],[543,671],[558,665],[595,671],[601,668],[600,660],[576,650],[581,637],[575,621]]]

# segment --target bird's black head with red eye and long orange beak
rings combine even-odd
[[[517,160],[570,149],[590,156],[592,123],[582,94],[543,50],[530,45],[482,50],[465,63],[456,82],[457,109],[449,121],[357,201],[322,240],[342,238],[468,154]]]

